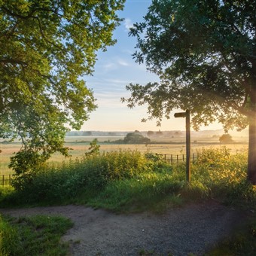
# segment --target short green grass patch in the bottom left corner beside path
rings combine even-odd
[[[10,219],[0,216],[1,255],[66,255],[60,237],[72,227],[66,218],[35,216]]]

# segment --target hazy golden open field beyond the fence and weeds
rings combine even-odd
[[[181,137],[163,137],[151,139],[151,144],[148,145],[125,145],[117,144],[115,141],[123,139],[121,136],[69,136],[66,137],[66,147],[72,148],[69,153],[72,159],[82,157],[90,147],[90,142],[93,139],[98,139],[101,151],[120,151],[120,150],[138,150],[142,152],[151,152],[158,154],[185,154],[185,138]],[[248,139],[246,137],[233,137],[234,143],[221,145],[218,142],[218,137],[215,136],[192,136],[191,137],[191,154],[196,153],[200,148],[221,148],[226,146],[231,151],[244,151],[248,148]],[[12,170],[8,168],[10,157],[20,150],[20,142],[0,143],[0,175],[11,174]],[[59,163],[69,160],[61,154],[56,153],[50,158],[50,162]]]

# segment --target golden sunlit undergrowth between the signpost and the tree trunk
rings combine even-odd
[[[210,197],[230,204],[253,206],[256,203],[256,186],[246,179],[246,152],[230,154],[224,147],[203,149],[199,154],[192,166],[192,177],[208,187]]]

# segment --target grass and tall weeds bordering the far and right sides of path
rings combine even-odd
[[[245,152],[201,149],[187,184],[184,164],[169,166],[160,157],[140,151],[106,152],[48,165],[35,175],[20,177],[20,190],[0,190],[0,206],[77,203],[114,212],[160,213],[186,202],[215,199],[254,213],[238,237],[217,245],[209,254],[226,254],[230,248],[234,250],[230,255],[250,255],[249,248],[254,250],[255,244],[256,186],[246,181],[246,166]]]

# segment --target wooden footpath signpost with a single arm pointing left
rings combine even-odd
[[[190,111],[175,113],[174,117],[186,117],[186,179],[190,182]]]

